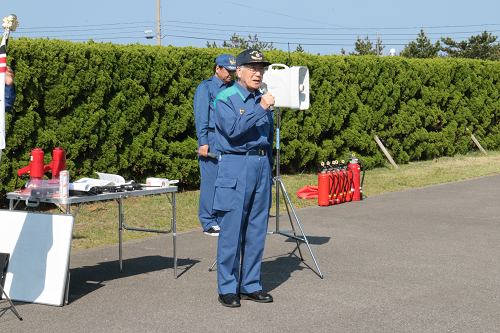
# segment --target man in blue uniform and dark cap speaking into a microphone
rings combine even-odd
[[[274,114],[269,110],[274,97],[258,89],[268,65],[259,50],[240,53],[238,81],[214,103],[219,170],[213,207],[221,227],[217,283],[219,302],[227,307],[240,306],[240,299],[273,301],[262,290],[260,274],[274,164]]]

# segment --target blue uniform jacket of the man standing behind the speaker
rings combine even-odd
[[[194,94],[194,122],[198,135],[198,146],[208,145],[208,130],[215,129],[213,101],[217,94],[230,87],[232,81],[224,84],[222,80],[213,75],[210,79],[201,82]]]

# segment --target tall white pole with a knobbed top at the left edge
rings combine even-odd
[[[0,43],[0,162],[2,161],[2,150],[5,149],[5,72],[7,70],[7,41],[10,32],[16,31],[19,26],[17,16],[11,14],[3,18],[2,27],[5,29],[2,42]]]

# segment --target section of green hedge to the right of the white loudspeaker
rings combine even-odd
[[[499,148],[500,62],[312,55],[296,59],[310,69],[312,103],[307,111],[283,116],[283,164],[292,169],[345,158],[351,151],[369,167],[383,163],[375,134],[397,163],[475,149],[466,126],[484,147]]]

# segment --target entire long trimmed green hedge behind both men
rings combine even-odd
[[[18,98],[6,116],[0,196],[17,169],[42,148],[67,153],[71,179],[94,171],[126,179],[199,183],[192,99],[212,75],[220,49],[11,40],[8,64]],[[237,54],[237,50],[230,50]],[[287,64],[289,55],[264,52]],[[283,110],[281,166],[303,170],[356,152],[368,167],[384,161],[373,136],[398,163],[474,149],[470,132],[498,149],[500,62],[317,56],[292,53],[310,70],[311,107]],[[23,177],[26,180],[27,177]]]

